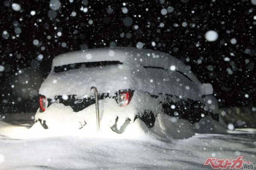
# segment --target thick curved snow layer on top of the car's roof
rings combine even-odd
[[[52,62],[52,66],[67,65],[79,62],[113,61],[125,62],[137,60],[143,66],[161,67],[166,70],[174,68],[177,71],[186,74],[193,82],[200,85],[201,82],[192,74],[190,68],[180,59],[169,54],[154,51],[150,49],[138,49],[134,47],[116,47],[116,48],[93,48],[81,51],[74,51],[60,54]]]

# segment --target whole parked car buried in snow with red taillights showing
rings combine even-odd
[[[192,123],[207,115],[218,120],[212,85],[201,83],[189,66],[160,51],[116,47],[55,57],[39,89],[35,122],[44,128],[95,125],[91,87],[98,91],[100,125],[116,133],[137,119],[153,127],[159,113]]]

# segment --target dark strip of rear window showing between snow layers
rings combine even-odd
[[[118,65],[118,64],[122,64],[122,62],[120,61],[79,62],[79,63],[55,66],[54,72],[61,73],[64,71],[74,70],[78,68],[104,67],[108,65]]]

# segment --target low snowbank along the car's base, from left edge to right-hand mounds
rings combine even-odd
[[[96,131],[96,123],[80,130],[68,128],[68,126],[44,129],[40,122],[36,122],[31,128],[26,126],[6,126],[0,128],[0,135],[12,139],[76,136],[78,138],[135,139],[157,142],[172,139],[188,139],[194,136],[195,133],[226,133],[226,128],[209,116],[192,125],[187,120],[177,119],[165,114],[157,115],[155,125],[152,128],[148,128],[144,122],[137,119],[135,122],[131,122],[122,134],[113,132],[110,125],[106,122],[101,124],[99,132]]]

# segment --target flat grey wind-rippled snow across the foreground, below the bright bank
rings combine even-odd
[[[196,134],[189,139],[138,141],[62,137],[1,141],[1,169],[211,169],[207,157],[255,164],[255,139],[245,134]]]

